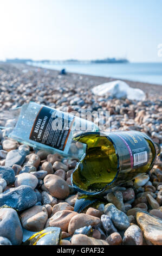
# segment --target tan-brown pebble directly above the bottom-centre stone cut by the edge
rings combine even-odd
[[[101,223],[100,218],[90,216],[87,214],[77,214],[77,215],[73,216],[72,219],[70,220],[69,227],[68,227],[68,233],[74,234],[74,231],[76,229],[79,229],[79,228],[82,228],[85,226],[89,226],[89,225],[94,227],[95,225],[98,225],[99,223]]]

